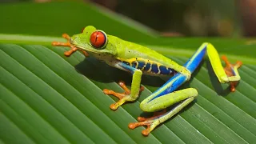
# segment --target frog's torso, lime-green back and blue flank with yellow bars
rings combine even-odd
[[[146,46],[127,42],[120,38],[116,39],[115,42],[117,42],[115,45],[118,50],[117,59],[126,65],[142,70],[145,74],[166,75],[172,74],[174,71],[180,72],[184,69],[170,58],[166,58],[164,55],[159,54]]]

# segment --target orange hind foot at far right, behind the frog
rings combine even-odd
[[[222,56],[222,60],[226,63],[226,67],[224,68],[226,75],[227,76],[234,76],[233,70],[234,67],[237,69],[242,66],[242,62],[238,61],[234,65],[230,64],[230,62],[227,60],[226,56]],[[238,84],[238,82],[230,82],[230,91],[234,92],[235,91],[235,86]]]

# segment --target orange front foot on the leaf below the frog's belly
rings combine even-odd
[[[125,82],[118,82],[118,85],[122,87],[123,90],[125,90],[125,92],[123,93],[117,93],[117,92],[114,92],[113,90],[107,90],[107,89],[104,89],[103,90],[103,93],[104,94],[112,94],[114,95],[115,97],[119,98],[119,101],[114,103],[114,104],[111,104],[110,105],[110,109],[112,110],[117,110],[118,109],[118,106],[121,106],[124,102],[126,101],[132,101],[133,99],[130,97],[130,90],[126,87],[126,84]],[[144,87],[141,86],[140,88],[140,92],[144,90]]]

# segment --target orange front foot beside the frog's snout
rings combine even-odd
[[[51,44],[53,46],[69,46],[71,49],[68,51],[65,51],[64,54],[66,55],[66,57],[69,57],[71,54],[73,54],[76,50],[78,50],[77,47],[73,46],[70,44],[70,36],[68,34],[62,34],[62,38],[66,38],[66,40],[68,42],[52,42]],[[82,53],[85,54],[86,57],[89,56],[89,54],[85,51],[82,50]]]

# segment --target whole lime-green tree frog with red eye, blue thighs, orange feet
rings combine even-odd
[[[112,110],[117,110],[125,102],[133,102],[138,98],[139,93],[143,90],[141,86],[142,74],[151,76],[173,74],[163,86],[140,103],[141,110],[145,112],[159,112],[161,110],[164,112],[156,114],[152,118],[138,117],[138,122],[129,124],[130,129],[147,126],[146,130],[142,130],[142,134],[145,136],[150,134],[156,126],[177,114],[198,96],[198,91],[194,88],[176,89],[190,80],[191,74],[206,53],[219,82],[230,82],[230,90],[234,91],[236,83],[240,80],[238,68],[242,66],[242,62],[238,61],[232,65],[223,56],[222,59],[226,62],[226,68],[223,68],[217,50],[209,42],[203,42],[192,57],[183,66],[180,66],[177,62],[146,46],[106,34],[94,26],[86,26],[81,34],[74,34],[72,37],[63,34],[62,37],[66,38],[68,42],[52,42],[52,45],[70,46],[71,49],[64,53],[66,56],[70,56],[76,50],[82,50],[86,57],[93,55],[110,66],[133,74],[130,90],[122,81],[118,82],[118,85],[125,90],[124,93],[103,90],[105,94],[112,94],[119,98],[118,102],[110,105]],[[178,105],[166,112],[166,108],[175,103]]]

